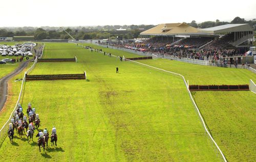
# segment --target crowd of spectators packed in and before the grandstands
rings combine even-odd
[[[181,38],[175,38],[177,41]],[[245,51],[232,47],[233,34],[226,34],[220,38],[191,37],[170,45],[173,39],[151,38],[140,43],[118,44],[116,47],[127,48],[140,52],[152,53],[158,56],[175,56],[200,60],[219,60],[220,57],[242,56]],[[212,41],[212,42],[210,42]],[[209,44],[206,44],[210,42]],[[199,49],[202,45],[205,47]]]

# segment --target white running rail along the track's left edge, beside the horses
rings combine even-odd
[[[17,108],[17,105],[19,103],[19,100],[20,100],[20,97],[22,96],[22,92],[23,92],[23,88],[24,88],[24,83],[26,82],[26,74],[30,73],[33,68],[35,67],[35,64],[37,63],[37,56],[34,60],[34,63],[33,65],[24,73],[24,77],[23,77],[23,80],[22,80],[22,86],[20,88],[20,92],[19,92],[19,96],[18,96],[18,100],[16,102],[16,105],[14,106],[14,109],[12,110],[11,112],[11,115],[9,117],[9,119],[7,120],[7,122],[4,124],[4,126],[0,129],[0,139],[2,139],[2,137],[4,137],[6,134],[7,134],[7,131],[9,130],[9,122],[12,118],[12,115],[13,115],[13,112],[15,111],[15,109]]]

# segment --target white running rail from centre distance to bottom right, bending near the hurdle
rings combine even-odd
[[[80,44],[79,44],[79,45],[80,45]],[[80,45],[80,46],[83,47],[83,48],[85,48],[85,46],[83,46],[83,45]],[[90,49],[89,49],[89,50],[90,50]],[[101,52],[101,51],[100,51],[100,52]],[[103,52],[101,52],[101,53],[103,53]],[[115,56],[115,55],[112,55],[112,56]],[[118,56],[115,56],[115,57],[118,57]],[[186,89],[187,89],[187,91],[188,91],[189,97],[190,97],[191,101],[193,102],[193,105],[194,105],[195,108],[197,109],[197,112],[198,112],[199,117],[200,117],[200,119],[201,119],[201,121],[202,121],[202,123],[203,123],[203,126],[204,126],[205,131],[207,132],[207,134],[209,135],[211,141],[214,142],[215,146],[217,147],[217,149],[218,149],[219,152],[221,153],[223,160],[224,160],[225,162],[227,162],[226,157],[224,156],[224,154],[222,153],[221,149],[219,148],[219,146],[218,146],[217,143],[215,142],[214,138],[211,136],[211,134],[209,133],[208,129],[206,128],[206,124],[205,124],[205,122],[204,122],[204,120],[203,120],[202,114],[201,114],[201,112],[199,111],[199,108],[197,107],[197,104],[196,104],[196,102],[194,101],[194,99],[193,99],[193,97],[192,97],[192,95],[191,95],[191,92],[190,92],[190,90],[189,90],[188,81],[186,82],[186,80],[185,80],[185,78],[184,78],[183,75],[178,74],[178,73],[174,73],[174,72],[170,72],[170,71],[166,71],[166,70],[163,70],[163,69],[161,69],[161,68],[154,67],[154,66],[151,66],[151,65],[147,65],[147,64],[144,64],[144,63],[140,63],[140,62],[137,62],[137,61],[133,61],[133,60],[129,60],[129,59],[124,59],[124,60],[132,61],[132,62],[141,64],[141,65],[144,65],[144,66],[156,68],[157,70],[160,70],[160,71],[164,71],[164,72],[167,72],[167,73],[172,73],[172,74],[181,76],[182,79],[183,79],[183,81],[184,81],[184,83],[185,83],[185,86],[186,86]]]

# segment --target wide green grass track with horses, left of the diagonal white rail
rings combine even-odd
[[[38,62],[31,74],[86,70],[88,81],[28,81],[25,86],[23,107],[32,103],[40,128],[57,128],[58,146],[40,153],[35,136],[34,143],[28,144],[15,134],[12,144],[8,138],[2,143],[1,161],[221,160],[181,77],[91,53],[75,44],[46,43],[44,58],[75,55],[77,63]]]

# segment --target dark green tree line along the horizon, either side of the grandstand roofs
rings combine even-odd
[[[226,24],[249,24],[256,30],[256,19],[246,21],[244,18],[235,17],[231,22],[227,21],[205,21],[197,24],[195,20],[188,25],[195,28],[210,28]],[[133,39],[138,38],[142,31],[151,29],[154,25],[131,25],[131,26],[94,26],[94,27],[68,27],[65,30],[75,39]],[[58,27],[13,27],[0,28],[0,37],[28,36],[33,35],[35,39],[71,39],[63,30],[57,30]],[[117,30],[126,29],[126,30]]]

